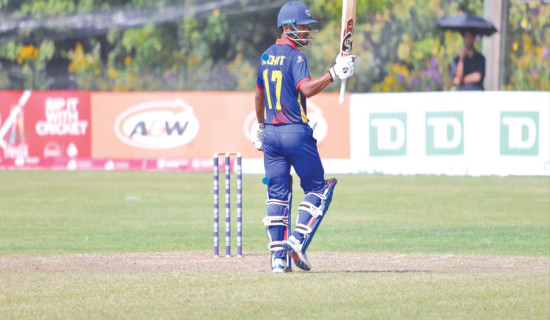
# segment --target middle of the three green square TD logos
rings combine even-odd
[[[426,112],[426,154],[464,154],[464,112]]]

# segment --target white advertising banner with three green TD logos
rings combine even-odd
[[[355,172],[549,175],[550,92],[353,94]]]

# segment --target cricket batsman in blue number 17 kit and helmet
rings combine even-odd
[[[317,30],[307,5],[291,1],[277,18],[281,37],[261,56],[256,80],[255,107],[258,129],[254,146],[264,152],[267,181],[267,216],[263,222],[274,273],[291,271],[290,258],[303,270],[311,264],[306,249],[328,210],[336,179],[325,180],[317,140],[308,125],[306,98],[336,79],[353,75],[355,56],[338,54],[336,64],[311,79],[307,59],[300,50],[311,47]],[[288,234],[290,169],[300,177],[305,198],[298,208],[296,228]]]

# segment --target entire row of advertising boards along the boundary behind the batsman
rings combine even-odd
[[[308,99],[327,174],[550,175],[550,92]],[[209,171],[251,143],[253,92],[0,92],[0,169]]]

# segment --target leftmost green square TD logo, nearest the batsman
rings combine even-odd
[[[407,114],[371,113],[369,151],[373,157],[407,155]]]

